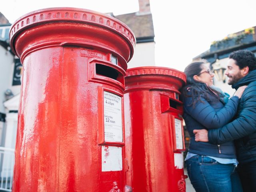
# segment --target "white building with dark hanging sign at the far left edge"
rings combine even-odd
[[[11,105],[19,99],[21,64],[10,51],[11,24],[2,14],[0,22],[0,191],[11,191],[18,120],[18,105]]]

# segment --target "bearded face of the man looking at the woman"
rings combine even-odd
[[[236,60],[234,59],[228,60],[228,66],[225,75],[228,76],[229,85],[235,84],[236,82],[238,82],[238,80],[244,77],[242,74],[242,70],[239,68],[238,65],[236,65]]]

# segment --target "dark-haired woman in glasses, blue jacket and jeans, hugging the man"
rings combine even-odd
[[[183,117],[190,134],[185,163],[190,181],[196,192],[241,192],[234,143],[196,142],[193,130],[219,128],[230,122],[246,86],[228,99],[213,87],[214,74],[204,62],[191,63],[184,72],[187,84],[182,88]]]

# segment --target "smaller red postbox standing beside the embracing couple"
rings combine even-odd
[[[185,192],[183,72],[164,67],[127,70],[124,114],[127,183],[134,192]]]

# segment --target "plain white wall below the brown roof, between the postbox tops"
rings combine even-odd
[[[128,68],[155,65],[155,42],[136,44],[134,55],[128,62]]]

